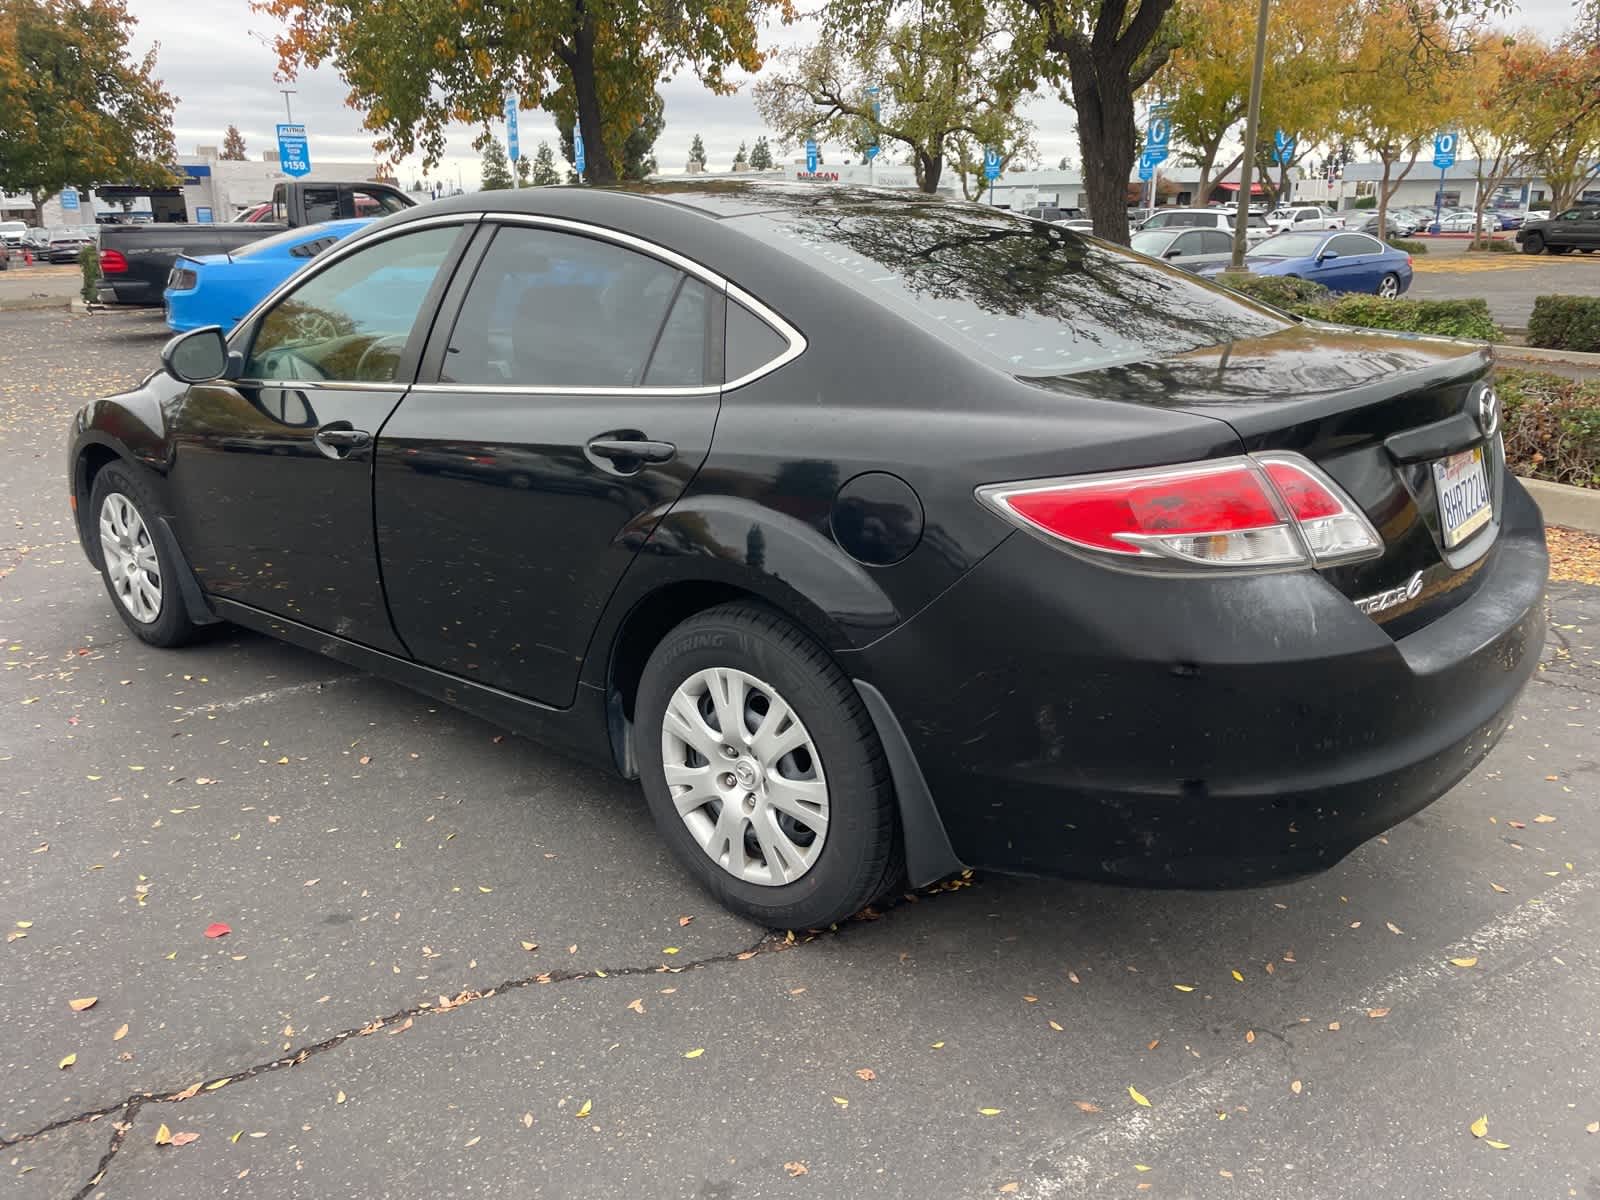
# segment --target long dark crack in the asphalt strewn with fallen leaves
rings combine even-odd
[[[419,1002],[419,1003],[414,1003],[414,1005],[408,1005],[406,1008],[400,1008],[400,1010],[390,1013],[389,1016],[374,1018],[373,1021],[368,1021],[365,1026],[357,1026],[354,1029],[342,1029],[338,1034],[333,1034],[331,1037],[323,1038],[322,1042],[314,1042],[314,1043],[301,1046],[299,1050],[294,1050],[291,1053],[280,1054],[280,1056],[277,1056],[274,1059],[269,1059],[266,1062],[258,1062],[258,1064],[254,1064],[251,1067],[245,1067],[243,1070],[237,1070],[237,1072],[234,1072],[230,1075],[218,1075],[214,1078],[202,1078],[197,1083],[190,1083],[187,1088],[182,1088],[182,1090],[178,1090],[178,1091],[170,1091],[170,1093],[163,1091],[163,1090],[158,1090],[158,1091],[138,1091],[138,1093],[133,1093],[131,1096],[125,1096],[123,1099],[117,1101],[115,1104],[107,1104],[107,1106],[102,1106],[102,1107],[98,1107],[98,1109],[85,1109],[83,1112],[77,1112],[77,1114],[74,1114],[70,1117],[61,1117],[61,1118],[53,1120],[48,1125],[42,1125],[40,1128],[32,1130],[29,1133],[19,1133],[19,1134],[16,1134],[13,1138],[0,1138],[0,1149],[11,1149],[14,1146],[24,1146],[27,1142],[32,1142],[35,1138],[40,1138],[40,1136],[43,1136],[46,1133],[54,1133],[56,1130],[64,1130],[64,1128],[67,1128],[70,1125],[82,1125],[82,1123],[88,1123],[88,1122],[96,1122],[101,1117],[109,1117],[109,1115],[117,1114],[117,1112],[123,1114],[123,1118],[120,1122],[117,1122],[114,1125],[114,1128],[112,1128],[110,1144],[106,1147],[106,1154],[101,1155],[99,1163],[96,1163],[94,1176],[82,1189],[78,1189],[78,1192],[74,1194],[74,1200],[83,1200],[106,1178],[106,1171],[110,1170],[110,1165],[112,1165],[112,1162],[117,1157],[117,1152],[122,1149],[123,1139],[126,1138],[128,1131],[133,1126],[133,1118],[139,1114],[139,1109],[144,1107],[146,1104],[181,1104],[186,1099],[192,1099],[194,1096],[198,1096],[202,1091],[206,1091],[206,1090],[213,1090],[214,1091],[214,1090],[221,1088],[224,1083],[227,1083],[227,1085],[242,1083],[245,1080],[251,1080],[251,1078],[254,1078],[258,1075],[266,1075],[266,1074],[270,1074],[274,1070],[283,1070],[286,1067],[298,1067],[301,1062],[306,1062],[307,1059],[310,1059],[315,1054],[323,1054],[323,1053],[326,1053],[330,1050],[334,1050],[334,1048],[344,1045],[346,1042],[349,1042],[352,1038],[358,1038],[358,1037],[366,1037],[370,1034],[376,1034],[379,1029],[386,1029],[386,1027],[394,1026],[397,1022],[400,1022],[403,1027],[410,1029],[410,1022],[414,1021],[419,1016],[434,1016],[437,1013],[451,1013],[451,1011],[454,1011],[458,1008],[464,1008],[466,1005],[477,1003],[480,1000],[490,1000],[491,997],[496,997],[496,995],[499,995],[502,992],[515,992],[515,990],[520,990],[523,987],[542,987],[546,984],[566,984],[566,982],[576,982],[579,979],[627,979],[630,976],[640,976],[640,974],[685,974],[688,971],[699,971],[699,970],[704,970],[704,968],[709,968],[709,966],[720,966],[723,963],[747,962],[747,960],[755,958],[757,955],[762,955],[762,954],[776,954],[779,950],[787,950],[792,946],[798,946],[802,942],[814,941],[818,936],[822,936],[822,934],[821,933],[808,933],[803,938],[795,938],[795,934],[792,931],[787,933],[787,934],[784,934],[784,936],[778,936],[774,933],[765,933],[755,942],[752,942],[750,946],[747,946],[747,947],[744,947],[741,950],[726,950],[723,954],[707,955],[706,958],[693,958],[693,960],[683,963],[682,966],[667,966],[666,963],[651,963],[650,966],[632,965],[632,966],[618,966],[618,968],[590,968],[587,971],[576,971],[576,970],[570,970],[570,971],[541,971],[538,974],[522,976],[522,978],[517,978],[517,979],[506,979],[504,982],[496,984],[494,987],[483,989],[483,990],[466,990],[466,992],[459,992],[454,997],[440,997],[442,1003],[440,1002],[424,1000],[424,1002]],[[392,1032],[398,1032],[398,1030],[392,1030]]]

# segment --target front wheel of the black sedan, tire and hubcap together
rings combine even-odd
[[[117,616],[152,646],[181,646],[198,626],[189,619],[178,592],[179,565],[155,533],[155,504],[149,490],[120,462],[94,477],[90,493],[101,576]]]

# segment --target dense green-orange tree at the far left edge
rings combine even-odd
[[[0,0],[0,192],[170,186],[173,98],[125,0]]]

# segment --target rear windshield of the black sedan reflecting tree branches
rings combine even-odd
[[[978,206],[790,208],[734,224],[1013,374],[1141,362],[1288,325],[1174,267]]]

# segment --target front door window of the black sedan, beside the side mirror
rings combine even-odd
[[[246,379],[395,382],[406,339],[458,226],[400,234],[317,272],[256,323]]]

